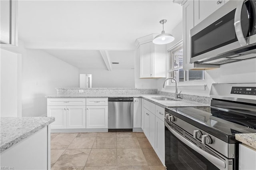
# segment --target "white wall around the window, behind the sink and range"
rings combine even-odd
[[[171,32],[175,37],[175,41],[168,44],[168,48],[182,40],[182,23],[178,24]],[[256,83],[256,58],[234,63],[220,65],[218,69],[206,70],[204,81],[193,81],[190,83],[178,83],[178,85],[188,85],[178,87],[178,91],[182,90],[183,94],[209,96],[212,83]],[[164,79],[158,79],[157,87],[160,91],[175,92],[174,86],[162,88]],[[203,86],[207,85],[204,90]]]

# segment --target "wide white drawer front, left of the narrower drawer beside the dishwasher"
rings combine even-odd
[[[85,98],[47,99],[48,106],[85,106]]]

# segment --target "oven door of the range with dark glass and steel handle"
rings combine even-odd
[[[165,166],[167,170],[225,170],[225,162],[181,136],[165,121]]]

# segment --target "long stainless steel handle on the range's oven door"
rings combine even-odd
[[[165,126],[170,130],[170,132],[172,132],[172,134],[174,136],[176,136],[179,140],[181,140],[184,144],[186,144],[187,146],[189,146],[190,148],[192,148],[193,150],[195,150],[196,152],[198,152],[199,154],[201,154],[202,156],[204,156],[206,159],[208,159],[210,162],[212,162],[215,166],[217,166],[219,169],[225,169],[226,168],[226,164],[225,162],[223,162],[222,160],[220,160],[219,158],[216,158],[215,156],[209,154],[208,152],[198,148],[196,145],[194,145],[193,143],[191,143],[190,141],[186,140],[185,138],[183,138],[182,136],[180,136],[180,134],[178,134],[177,132],[175,132],[175,130],[173,130],[168,123],[164,122]]]

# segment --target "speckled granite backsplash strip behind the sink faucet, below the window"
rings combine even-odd
[[[164,96],[169,96],[175,98],[175,93],[170,93],[166,91],[157,91],[158,95],[164,95]],[[206,103],[206,104],[211,104],[211,97],[206,97],[206,96],[197,96],[197,95],[187,95],[187,94],[180,94],[180,97],[185,100],[189,101],[196,101],[199,103]]]

